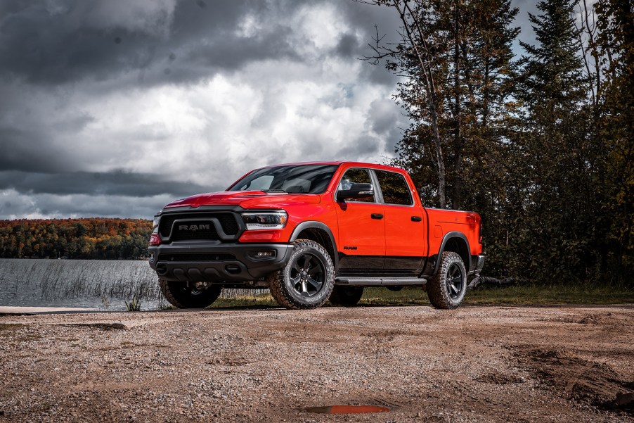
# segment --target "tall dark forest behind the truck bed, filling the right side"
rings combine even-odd
[[[632,1],[540,1],[534,44],[508,0],[356,1],[401,23],[365,57],[401,77],[392,164],[481,215],[484,273],[634,286]]]

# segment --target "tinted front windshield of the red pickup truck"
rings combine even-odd
[[[227,191],[323,194],[338,165],[293,165],[254,170]]]

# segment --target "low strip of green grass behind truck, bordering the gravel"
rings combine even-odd
[[[512,286],[480,286],[467,291],[464,304],[469,305],[548,305],[548,304],[628,304],[634,303],[634,289],[618,284],[524,284]],[[429,305],[427,293],[409,286],[401,291],[365,288],[359,305]],[[326,307],[330,303],[325,304]],[[271,294],[218,298],[210,308],[278,308]]]

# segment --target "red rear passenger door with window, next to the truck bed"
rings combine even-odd
[[[397,172],[373,170],[384,203],[386,272],[418,270],[427,253],[427,222],[417,195],[406,178]]]

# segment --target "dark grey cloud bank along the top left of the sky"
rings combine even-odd
[[[151,84],[189,82],[254,60],[299,58],[283,25],[266,26],[251,37],[237,34],[247,11],[271,13],[264,2],[221,1],[201,7],[202,2],[179,1],[173,15],[159,15],[154,30],[135,26],[136,21],[110,23],[85,1],[61,1],[56,10],[44,2],[20,4],[7,1],[0,16],[0,72],[37,84],[107,80],[127,72],[140,72],[140,82]],[[301,4],[293,1],[287,8]]]

